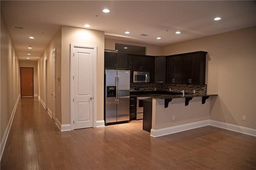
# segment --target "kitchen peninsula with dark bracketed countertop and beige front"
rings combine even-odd
[[[159,95],[144,100],[143,129],[158,137],[209,125],[214,94]]]

